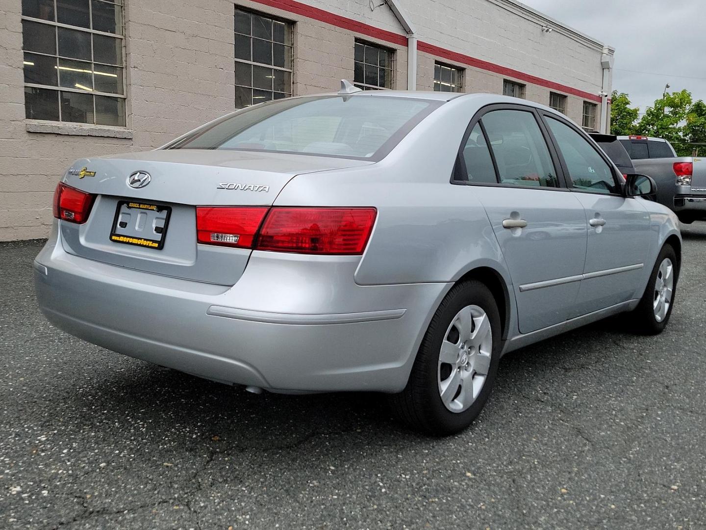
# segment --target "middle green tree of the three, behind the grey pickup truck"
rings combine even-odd
[[[665,94],[663,98],[655,100],[652,107],[647,107],[645,115],[638,122],[637,130],[645,136],[668,140],[680,156],[690,155],[684,126],[692,106],[691,93],[687,90]]]

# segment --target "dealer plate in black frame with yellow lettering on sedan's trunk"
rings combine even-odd
[[[155,250],[164,247],[172,208],[140,201],[118,201],[110,240]]]

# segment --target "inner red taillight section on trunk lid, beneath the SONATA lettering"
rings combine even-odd
[[[198,206],[196,231],[199,243],[252,248],[266,207]]]

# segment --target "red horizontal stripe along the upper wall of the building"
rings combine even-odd
[[[337,28],[360,33],[361,35],[367,35],[375,39],[384,40],[385,42],[392,42],[396,45],[407,46],[407,37],[405,35],[393,33],[388,30],[381,30],[375,26],[364,24],[345,16],[336,15],[335,13],[330,13],[330,11],[324,11],[323,9],[308,6],[307,4],[302,4],[301,2],[294,0],[253,1],[256,1],[258,4],[264,4],[265,6],[282,9],[282,11],[288,11],[289,13],[295,13],[297,15],[305,16],[306,18],[313,18],[314,20],[319,20],[320,22],[335,25]],[[473,66],[474,68],[481,70],[500,73],[503,76],[519,79],[520,81],[526,81],[527,83],[532,83],[534,85],[544,86],[545,88],[551,88],[552,90],[558,90],[559,92],[576,95],[585,100],[601,102],[601,97],[599,95],[584,92],[583,90],[578,90],[578,88],[561,85],[560,83],[554,83],[554,81],[548,81],[546,79],[542,79],[541,77],[532,76],[529,73],[513,70],[511,68],[507,68],[506,66],[500,66],[499,64],[493,64],[489,61],[476,59],[475,57],[471,57],[469,55],[453,52],[450,49],[431,45],[428,42],[418,41],[417,49],[419,49],[420,52],[436,55],[436,57],[442,57],[443,59],[447,59],[449,61],[467,64],[468,66]]]

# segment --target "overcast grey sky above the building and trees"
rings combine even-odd
[[[613,88],[628,93],[640,112],[662,97],[666,83],[670,92],[686,88],[706,100],[704,0],[521,1],[614,47]]]

